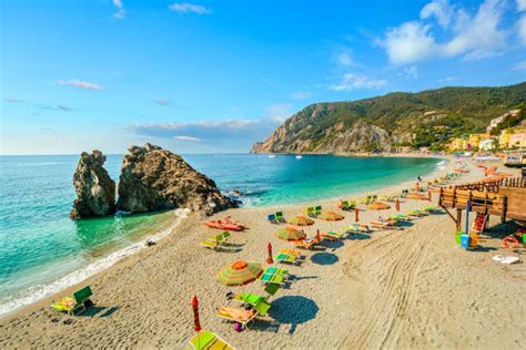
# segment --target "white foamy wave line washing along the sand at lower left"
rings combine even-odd
[[[6,302],[0,303],[0,315],[12,312],[23,306],[33,303],[45,297],[60,292],[68,287],[80,284],[87,278],[113,266],[125,257],[129,257],[138,253],[139,250],[144,249],[146,247],[148,241],[159,241],[165,238],[184,218],[186,218],[189,213],[189,209],[176,209],[174,212],[175,220],[166,229],[148,236],[142,240],[132,244],[131,246],[113,251],[109,256],[99,259],[94,262],[91,262],[88,266],[80,268],[71,274],[68,274],[51,284],[36,286],[29,290],[26,290],[23,294],[13,297],[11,300],[7,300]]]

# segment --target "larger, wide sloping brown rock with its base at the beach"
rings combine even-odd
[[[146,143],[132,146],[122,161],[118,208],[132,213],[189,208],[203,215],[235,207],[215,183],[184,159]]]

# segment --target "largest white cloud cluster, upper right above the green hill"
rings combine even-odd
[[[500,29],[504,10],[505,1],[485,0],[472,16],[446,0],[434,0],[422,9],[422,21],[388,29],[380,43],[394,64],[411,64],[432,56],[486,59],[506,45],[507,31]],[[437,19],[448,39],[437,42],[435,27],[425,21],[431,18]]]

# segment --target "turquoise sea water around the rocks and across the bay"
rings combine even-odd
[[[442,162],[247,154],[184,157],[225,193],[241,192],[240,198],[250,206],[337,197],[387,186],[428,173]],[[119,155],[108,156],[105,165],[114,179],[121,159]],[[172,212],[71,220],[77,162],[78,156],[0,157],[0,305],[13,305],[22,295],[43,296],[42,286],[173,222]],[[0,307],[0,313],[2,310],[6,308]]]

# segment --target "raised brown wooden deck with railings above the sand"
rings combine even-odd
[[[467,202],[469,212],[499,216],[502,223],[506,219],[526,220],[526,179],[507,177],[441,188],[438,205],[455,222],[457,230],[461,229],[462,210],[466,209]],[[456,216],[449,208],[456,209]]]

